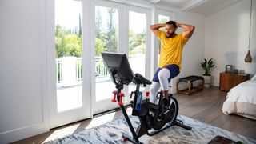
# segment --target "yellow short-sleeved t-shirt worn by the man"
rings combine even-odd
[[[181,70],[182,67],[182,49],[189,38],[184,38],[183,34],[177,34],[173,38],[167,38],[166,34],[158,31],[158,38],[161,42],[161,52],[159,59],[159,67],[170,64],[178,65]]]

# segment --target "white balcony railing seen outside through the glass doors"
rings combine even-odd
[[[145,74],[145,55],[130,55],[130,66],[134,73]],[[82,58],[56,58],[56,83],[58,87],[78,86],[82,84]],[[95,58],[95,81],[110,81],[110,74],[103,63],[102,57]]]

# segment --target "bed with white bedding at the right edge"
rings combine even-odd
[[[256,74],[227,93],[222,112],[256,120]]]

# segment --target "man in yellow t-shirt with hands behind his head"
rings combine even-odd
[[[159,28],[165,27],[165,32]],[[175,34],[178,27],[184,28],[181,34]],[[153,82],[150,86],[150,102],[157,104],[156,95],[161,86],[163,91],[163,102],[165,106],[170,105],[168,98],[169,80],[176,77],[182,65],[182,49],[194,32],[194,26],[174,21],[166,24],[151,25],[150,29],[157,35],[161,42],[160,59],[158,70],[154,73]]]

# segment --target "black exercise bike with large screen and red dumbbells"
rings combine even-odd
[[[170,126],[181,126],[186,130],[191,130],[190,126],[183,124],[181,120],[177,119],[178,116],[178,101],[169,94],[170,106],[166,107],[162,101],[162,91],[158,92],[158,104],[149,102],[149,93],[146,93],[146,99],[142,100],[142,92],[139,90],[140,86],[146,87],[151,82],[144,78],[141,74],[133,74],[126,54],[102,53],[103,62],[105,63],[112,82],[114,82],[116,89],[113,91],[114,97],[112,102],[118,102],[122,110],[122,114],[126,118],[126,122],[130,128],[132,136],[129,134],[122,134],[123,141],[130,141],[133,143],[139,142],[138,138],[147,134],[152,136],[158,134],[162,130],[166,130]],[[124,94],[122,89],[124,85],[129,85],[133,82],[136,85],[136,90],[130,94],[130,106],[132,107],[132,115],[138,116],[140,125],[137,130],[134,130],[130,118],[126,113],[126,108],[123,105],[122,98]]]

